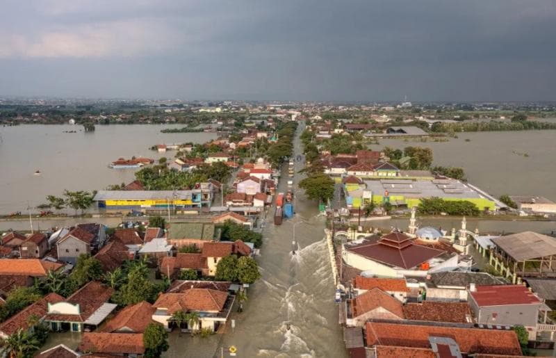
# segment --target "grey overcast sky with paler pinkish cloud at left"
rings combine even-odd
[[[3,0],[0,95],[556,100],[554,0]]]

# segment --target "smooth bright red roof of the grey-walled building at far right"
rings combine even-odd
[[[539,304],[541,300],[522,285],[477,286],[470,291],[479,307],[505,304]]]

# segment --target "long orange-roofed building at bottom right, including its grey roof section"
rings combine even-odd
[[[365,332],[367,347],[375,352],[379,352],[382,346],[420,348],[432,350],[431,354],[434,354],[434,351],[455,352],[452,355],[427,356],[407,354],[402,349],[402,352],[398,350],[401,354],[398,357],[469,357],[481,353],[521,355],[521,346],[513,330],[368,322],[365,325]],[[441,345],[445,347],[441,349]],[[388,356],[382,355],[382,357]]]

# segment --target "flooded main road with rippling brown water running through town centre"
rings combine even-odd
[[[294,158],[302,154],[300,123],[294,141]],[[297,189],[304,162],[295,163],[293,189],[295,216],[273,224],[270,210],[263,229],[264,243],[258,257],[262,279],[249,288],[243,314],[236,315],[236,328],[222,339],[222,346],[235,345],[238,357],[347,357],[334,304],[334,281],[324,239],[325,218],[318,216],[315,202]],[[287,168],[277,193],[287,190]],[[295,241],[293,245],[293,224]],[[296,254],[292,254],[292,248]],[[289,328],[289,329],[288,329]],[[224,350],[224,357],[227,357]]]

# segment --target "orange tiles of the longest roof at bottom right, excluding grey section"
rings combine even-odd
[[[512,330],[404,325],[396,323],[366,323],[367,345],[390,345],[429,348],[431,336],[449,337],[462,353],[493,353],[521,355],[516,333]]]

